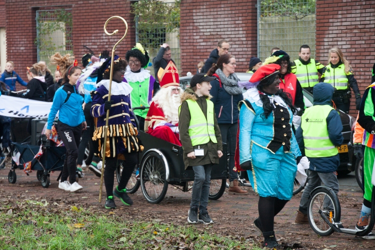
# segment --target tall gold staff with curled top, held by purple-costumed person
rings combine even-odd
[[[125,38],[126,33],[127,33],[127,22],[125,21],[124,18],[122,18],[121,16],[118,16],[118,15],[114,15],[112,17],[109,17],[108,20],[106,20],[106,22],[104,24],[104,32],[107,35],[114,35],[114,34],[116,34],[118,32],[118,29],[114,30],[112,33],[108,33],[107,32],[107,29],[106,29],[107,24],[113,18],[121,19],[125,23],[126,30],[125,30],[124,35],[121,37],[121,39],[119,39],[116,42],[116,44],[114,44],[114,46],[112,48],[112,58],[110,59],[108,101],[110,101],[110,88],[111,88],[111,85],[112,85],[114,49],[116,48],[116,46],[118,45],[118,43],[120,43],[123,40],[123,38]],[[101,176],[100,176],[99,203],[101,202],[101,191],[102,191],[102,188],[103,188],[103,175],[104,175],[104,163],[105,163],[105,146],[107,144],[106,142],[107,142],[107,132],[108,132],[108,117],[109,117],[109,109],[107,110],[107,116],[106,116],[106,119],[105,119],[105,126],[104,126],[104,144],[103,144],[103,150],[102,150],[102,152],[103,152],[102,153],[103,167],[101,168]]]

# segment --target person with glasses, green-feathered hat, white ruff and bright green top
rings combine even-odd
[[[136,43],[132,49],[126,52],[125,59],[129,65],[124,72],[124,78],[133,88],[130,94],[131,106],[149,106],[153,95],[155,78],[150,75],[149,70],[145,69],[149,62],[147,51],[143,49],[140,43]],[[139,120],[139,129],[143,129],[147,109],[136,109],[134,114]]]

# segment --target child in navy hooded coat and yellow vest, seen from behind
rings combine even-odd
[[[343,141],[340,115],[332,107],[334,88],[330,84],[317,83],[313,87],[313,106],[306,108],[301,125],[295,132],[302,156],[310,161],[307,183],[299,202],[295,218],[297,224],[307,224],[307,203],[310,192],[321,182],[337,194],[336,169],[340,164],[337,146]],[[327,207],[330,205],[327,204]],[[315,219],[317,223],[317,219]]]

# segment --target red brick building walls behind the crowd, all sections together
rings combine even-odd
[[[194,65],[205,60],[222,38],[229,40],[230,53],[237,60],[236,70],[245,71],[249,58],[257,54],[256,2],[181,0],[181,73],[195,72]],[[120,21],[112,20],[108,31],[119,29],[119,32],[109,37],[103,31],[104,22],[112,15],[124,17],[128,22],[128,33],[116,48],[116,53],[124,55],[135,43],[130,4],[131,1],[124,0],[0,0],[0,12],[6,13],[7,60],[13,60],[16,71],[26,78],[24,69],[36,61],[36,10],[56,8],[70,8],[72,11],[73,53],[77,59],[87,52],[83,45],[90,47],[95,54],[103,49],[110,50],[124,28]],[[3,16],[0,18],[4,22]],[[328,49],[332,46],[342,48],[353,67],[361,93],[371,83],[370,69],[375,62],[374,38],[375,1],[316,1],[316,58],[326,64]],[[352,110],[355,113],[354,107]]]

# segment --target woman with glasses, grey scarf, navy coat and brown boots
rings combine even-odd
[[[235,75],[235,58],[231,54],[221,55],[217,63],[207,72],[207,75],[216,77],[211,81],[209,93],[215,108],[217,123],[220,128],[222,141],[228,144],[229,149],[229,189],[230,194],[247,194],[248,191],[239,188],[237,172],[234,167],[234,151],[237,136],[238,102],[243,99],[242,88],[238,86],[238,77]]]

